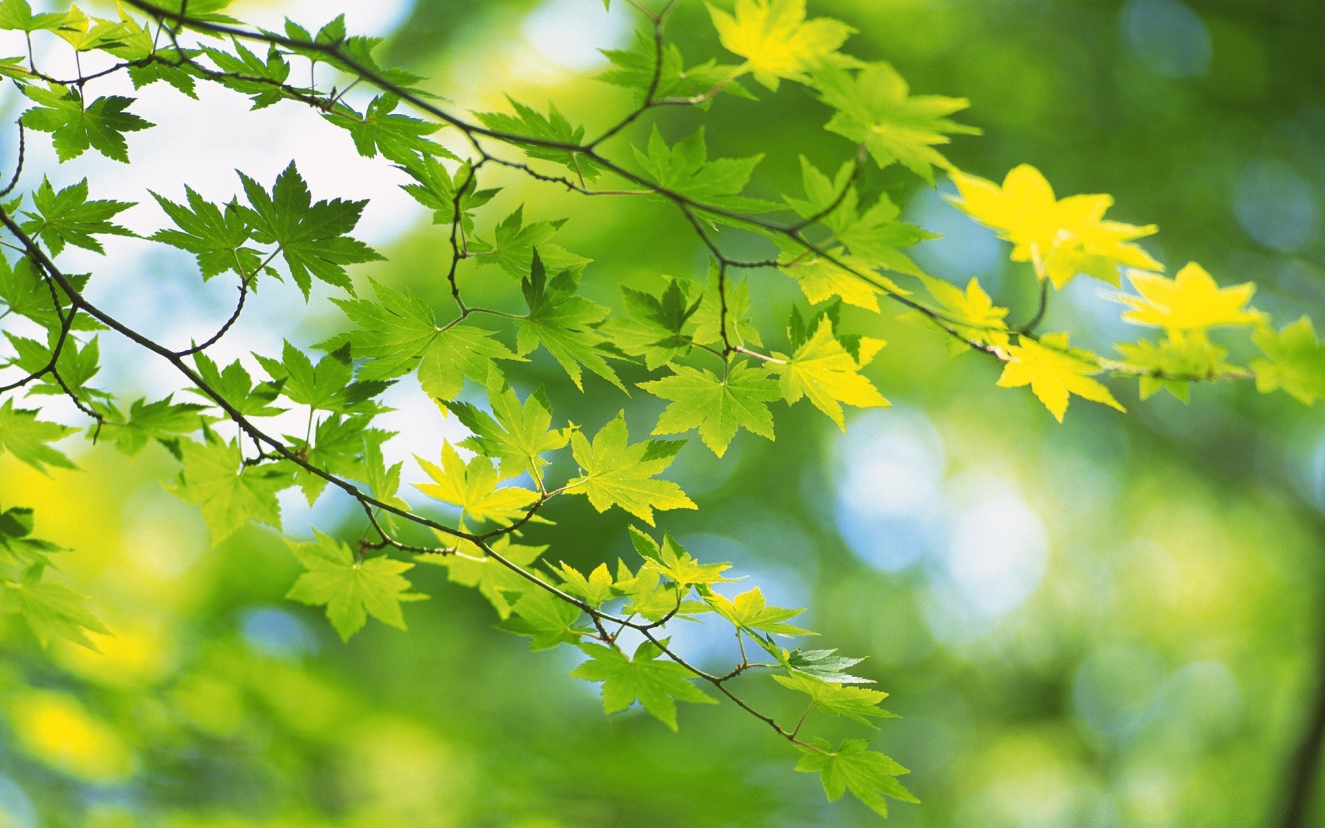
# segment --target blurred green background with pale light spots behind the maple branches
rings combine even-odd
[[[627,103],[592,79],[592,49],[621,45],[633,20],[598,0],[236,8],[293,8],[311,25],[348,11],[351,29],[356,12],[371,17],[395,32],[391,62],[462,107],[500,106],[501,91],[550,98],[594,132]],[[1260,307],[1325,323],[1325,5],[810,8],[857,28],[847,50],[893,61],[913,90],[971,99],[965,121],[986,136],[951,147],[961,168],[1002,179],[1028,162],[1060,195],[1110,192],[1120,220],[1159,224],[1151,250],[1171,269],[1198,260],[1223,284],[1255,280]],[[682,3],[672,33],[690,60],[721,57],[700,3]],[[721,101],[706,119],[712,155],[767,154],[757,195],[795,192],[799,154],[836,167],[851,152],[804,89],[762,97]],[[662,129],[674,138],[693,118],[669,113]],[[595,260],[586,282],[602,301],[620,282],[704,273],[704,252],[660,205],[506,183],[509,207],[571,217],[564,244]],[[1014,322],[1031,315],[1032,277],[1006,264],[1002,242],[894,171],[872,185],[945,233],[917,253],[924,266],[979,276]],[[407,215],[380,245],[391,264],[371,273],[444,307],[441,237]],[[803,303],[788,280],[751,278],[763,330]],[[1117,306],[1100,311],[1098,284],[1077,280],[1056,299],[1047,330],[1101,350],[1132,335]],[[776,442],[742,433],[721,462],[688,446],[674,477],[701,509],[662,526],[700,558],[733,560],[771,601],[810,607],[825,645],[869,656],[864,674],[902,717],[872,745],[912,768],[924,800],[894,804],[892,824],[1277,824],[1320,682],[1321,413],[1251,387],[1140,403],[1134,384],[1113,382],[1132,413],[1080,403],[1057,425],[1024,389],[995,388],[987,360],[947,360],[888,313],[851,325],[889,340],[869,372],[893,408],[856,416],[845,435],[808,407],[782,409]],[[619,404],[639,428],[661,407],[596,378],[579,395],[550,362],[513,379],[549,382],[555,411],[592,428]],[[443,428],[425,413],[398,441]],[[596,690],[566,676],[570,654],[529,653],[494,631],[490,607],[444,570],[412,572],[433,597],[407,608],[408,633],[370,624],[341,645],[318,612],[282,600],[297,564],[277,535],[249,529],[208,550],[154,452],[126,469],[98,448],[81,457],[86,472],[50,478],[0,462],[0,502],[38,507],[40,534],[76,550],[69,583],[115,631],[101,654],[48,654],[17,621],[0,628],[0,825],[874,824],[849,798],[825,803],[788,747],[730,705],[684,710],[680,734],[637,711],[604,719]],[[553,506],[558,525],[529,535],[550,559],[625,555],[623,521]],[[678,637],[714,662],[730,656],[704,628]],[[778,709],[766,690],[746,681]],[[1325,804],[1309,811],[1325,824]]]

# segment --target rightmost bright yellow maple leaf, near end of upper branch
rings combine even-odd
[[[1253,282],[1220,287],[1196,262],[1189,262],[1171,280],[1158,273],[1133,273],[1128,278],[1140,294],[1116,297],[1132,306],[1122,314],[1128,322],[1153,325],[1181,336],[1182,331],[1253,325],[1265,318],[1255,307],[1247,307],[1256,293]]]

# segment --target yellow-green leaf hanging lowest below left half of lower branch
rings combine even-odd
[[[356,559],[346,544],[317,530],[313,534],[313,543],[286,542],[307,572],[299,575],[285,597],[310,605],[326,604],[327,619],[342,641],[359,632],[370,615],[404,629],[400,603],[428,597],[411,592],[409,580],[401,575],[413,564],[386,555]]]

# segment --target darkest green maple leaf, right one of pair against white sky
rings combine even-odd
[[[240,179],[252,209],[238,209],[254,240],[281,246],[281,257],[305,298],[313,276],[352,294],[344,266],[382,260],[380,253],[347,234],[359,223],[367,201],[333,199],[314,204],[294,162],[277,176],[270,193],[242,172]]]

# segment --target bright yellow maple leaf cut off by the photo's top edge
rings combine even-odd
[[[828,17],[806,20],[806,0],[737,0],[734,12],[709,5],[722,46],[772,90],[779,78],[803,79],[855,32]]]

